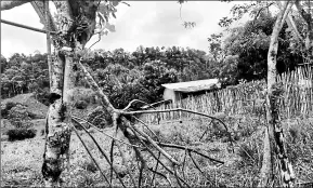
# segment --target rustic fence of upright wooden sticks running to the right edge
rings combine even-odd
[[[313,112],[313,78],[312,68],[298,68],[295,71],[278,76],[277,81],[284,85],[284,94],[281,98],[281,115],[283,118],[295,116],[308,116]],[[265,80],[240,83],[234,86],[198,96],[188,96],[175,104],[160,105],[156,109],[185,108],[198,112],[213,115],[225,112],[226,115],[256,116],[265,115],[264,99],[266,96]],[[187,112],[162,112],[143,115],[142,120],[148,123],[159,121],[172,121],[191,119],[195,115]]]

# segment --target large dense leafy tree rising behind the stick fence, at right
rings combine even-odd
[[[219,23],[225,28],[224,32],[208,38],[212,62],[209,65],[214,77],[220,78],[224,85],[237,84],[242,79],[251,81],[266,78],[270,37],[276,21],[276,15],[272,15],[269,10],[273,4],[270,1],[235,4],[231,15]],[[246,14],[251,19],[234,25]],[[295,17],[295,22],[302,27],[299,18]],[[285,24],[278,38],[278,73],[294,70],[298,64],[303,63],[303,56],[298,51],[300,41],[296,41],[292,35]]]

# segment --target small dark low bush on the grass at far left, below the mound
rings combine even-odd
[[[34,138],[36,136],[37,130],[35,129],[14,129],[8,131],[8,136],[10,142],[23,140],[26,138]]]

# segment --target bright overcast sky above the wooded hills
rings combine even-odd
[[[221,31],[218,22],[229,15],[233,3],[220,1],[187,1],[182,6],[182,18],[196,22],[196,27],[185,29],[180,18],[177,1],[127,1],[118,5],[117,18],[110,21],[116,32],[104,36],[92,49],[133,51],[143,46],[190,46],[208,51],[207,38]],[[50,5],[51,6],[51,5]],[[30,3],[2,11],[1,18],[42,28]],[[90,46],[97,37],[93,37]],[[6,58],[13,53],[32,54],[47,51],[45,35],[1,23],[1,54]]]

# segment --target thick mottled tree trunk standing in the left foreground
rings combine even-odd
[[[54,36],[55,56],[51,57],[51,94],[47,118],[47,135],[42,175],[47,187],[61,183],[60,175],[69,167],[69,142],[71,134],[71,106],[75,71],[78,56],[95,28],[95,11],[99,2],[67,0],[54,1],[61,15],[61,32]],[[80,18],[80,19],[79,19]],[[78,32],[80,27],[80,32]],[[61,40],[58,40],[61,39]],[[65,158],[66,157],[66,158]]]

